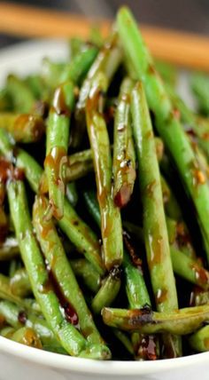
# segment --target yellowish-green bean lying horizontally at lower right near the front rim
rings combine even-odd
[[[170,333],[187,335],[199,329],[209,318],[209,305],[188,307],[170,313],[104,307],[103,321],[108,326],[142,334]]]

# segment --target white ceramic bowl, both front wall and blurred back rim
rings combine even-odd
[[[39,69],[44,56],[65,59],[62,41],[35,41],[0,52],[0,86],[5,75],[26,75]],[[180,88],[189,99],[187,75],[182,73]],[[190,99],[189,99],[190,100]],[[209,352],[156,362],[99,362],[43,352],[0,336],[0,380],[209,380]]]

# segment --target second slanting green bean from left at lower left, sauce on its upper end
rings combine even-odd
[[[55,226],[53,225],[52,220],[46,220],[44,218],[44,213],[47,207],[47,199],[43,196],[36,196],[33,208],[33,224],[35,226],[37,239],[43,250],[43,255],[50,268],[50,272],[53,274],[60,291],[65,297],[64,304],[67,303],[69,309],[72,309],[68,319],[74,324],[77,323],[78,319],[81,332],[87,338],[89,343],[102,343],[102,338],[97,331],[92,320],[92,315],[81,294],[81,289],[74,277],[71,265],[66,258],[66,252],[59,240]]]

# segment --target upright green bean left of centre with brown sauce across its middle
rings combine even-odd
[[[66,154],[70,115],[74,107],[74,85],[61,84],[54,93],[47,125],[44,168],[48,179],[50,209],[48,213],[60,219],[64,213],[66,192]]]

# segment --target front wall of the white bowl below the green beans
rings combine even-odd
[[[209,352],[157,361],[98,361],[44,352],[0,337],[1,380],[201,380]]]

